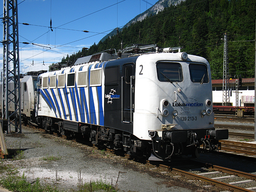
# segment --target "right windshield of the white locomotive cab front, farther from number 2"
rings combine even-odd
[[[189,64],[190,79],[193,83],[208,83],[208,71],[206,65]]]

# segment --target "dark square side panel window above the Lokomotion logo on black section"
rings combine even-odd
[[[118,85],[119,66],[105,68],[105,85]]]

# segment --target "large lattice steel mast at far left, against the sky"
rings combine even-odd
[[[20,61],[17,0],[4,0],[3,36],[3,106],[2,118],[8,120],[7,133],[11,125],[21,133],[20,109]],[[13,63],[13,65],[12,65]],[[11,111],[9,107],[14,107]],[[14,111],[14,112],[13,112]],[[11,118],[11,117],[14,117]]]

